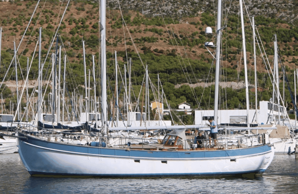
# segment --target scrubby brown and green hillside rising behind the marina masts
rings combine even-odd
[[[274,34],[277,34],[283,64],[286,67],[286,71],[290,72],[289,78],[293,80],[293,74],[291,73],[298,62],[298,28],[293,25],[296,22],[297,14],[295,15],[295,9],[287,8],[293,7],[295,5],[294,1],[287,1],[290,3],[280,4],[280,6],[278,6],[280,2],[277,1],[269,7],[266,2],[248,1],[247,7],[251,8],[251,13],[256,14],[255,23],[271,67],[273,58],[272,38]],[[0,2],[0,22],[2,27],[0,77],[3,79],[6,72],[8,72],[5,81],[15,80],[14,69],[8,69],[14,53],[13,41],[15,41],[16,47],[18,47],[36,3],[36,1]],[[216,5],[213,1],[198,0],[190,1],[187,5],[184,5],[182,1],[165,3],[167,5],[162,7],[164,12],[159,11],[162,14],[158,14],[157,4],[151,1],[120,1],[120,6],[124,7],[121,9],[119,9],[115,1],[109,2],[106,13],[109,87],[111,89],[115,84],[114,52],[117,51],[117,60],[121,72],[124,71],[124,64],[128,62],[128,58],[132,58],[132,85],[136,94],[139,94],[142,86],[145,74],[144,66],[148,65],[150,80],[157,86],[157,74],[159,74],[160,82],[164,85],[164,93],[171,106],[175,107],[177,104],[187,101],[195,108],[212,108],[210,103],[206,103],[209,100],[212,101],[212,90],[214,90],[212,86],[208,86],[209,91],[203,95],[202,92],[204,90],[198,86],[205,85],[195,83],[206,82],[207,79],[210,83],[214,81],[213,57],[204,47],[204,43],[206,41],[215,42],[214,36],[205,34],[205,28],[211,26],[213,32],[215,30],[214,10],[216,8],[214,7]],[[59,1],[54,0],[40,2],[38,5],[24,40],[18,49],[18,61],[22,71],[22,73],[18,72],[19,80],[22,80],[22,76],[25,77],[27,75],[25,73],[27,57],[31,61],[38,42],[39,27],[42,27],[41,58],[45,62],[43,77],[45,80],[50,78],[49,72],[52,64],[49,57],[46,61],[44,60],[65,8],[66,3],[61,5]],[[222,76],[222,81],[239,82],[243,81],[244,75],[241,62],[240,18],[236,11],[238,4],[232,4],[230,8],[231,10],[229,10],[229,15],[226,15],[225,21],[227,27],[223,30],[222,35],[221,66],[222,73],[225,75]],[[226,9],[227,7],[225,7]],[[264,14],[258,15],[258,13],[261,13],[261,10]],[[71,92],[78,90],[78,93],[84,93],[82,40],[85,41],[87,68],[91,69],[91,56],[95,55],[95,74],[96,77],[100,75],[98,66],[100,48],[98,12],[99,7],[97,3],[91,1],[71,1],[59,28],[59,45],[63,46],[62,51],[67,55],[66,85]],[[153,12],[156,12],[156,14],[153,14]],[[253,83],[252,32],[247,16],[245,17],[245,26],[249,81]],[[38,46],[29,72],[30,80],[36,80],[38,76],[37,52]],[[54,46],[49,51],[49,54],[52,52],[55,52]],[[211,52],[213,52],[213,49],[211,49]],[[258,51],[258,83],[260,87],[268,89],[272,86],[270,86],[270,79],[266,75],[266,66],[263,64],[261,56],[262,54]],[[128,74],[126,76],[128,78]],[[184,84],[186,82],[190,84]],[[9,83],[11,82],[7,82],[8,85]],[[98,83],[99,78],[96,78],[96,84],[98,85]],[[181,87],[178,88],[177,86]],[[196,88],[190,89],[190,86]],[[13,88],[11,89],[13,90]],[[30,89],[30,91],[33,90],[33,88]],[[124,90],[122,86],[121,90],[121,92]],[[111,91],[108,94],[109,99],[113,98],[113,92]],[[9,100],[15,99],[11,95],[15,93],[11,93],[11,91],[5,92],[2,92],[5,94],[4,98]],[[225,92],[228,92],[230,97],[226,96],[226,99],[222,99],[224,106],[227,108],[243,107],[245,104],[243,90],[235,91],[235,88],[231,86]],[[266,91],[266,95],[265,92],[261,94],[260,100],[269,100],[270,92]],[[196,94],[194,95],[194,93]],[[285,95],[286,101],[288,101],[288,104],[291,104],[290,95],[287,93]],[[202,101],[198,102],[195,96],[204,97],[200,99]],[[154,100],[152,93],[150,93],[150,100]],[[9,101],[6,100],[5,103],[7,108],[9,108]]]

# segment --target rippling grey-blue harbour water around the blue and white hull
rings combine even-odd
[[[275,155],[255,179],[100,179],[32,177],[18,154],[0,155],[0,193],[297,193],[298,161]]]

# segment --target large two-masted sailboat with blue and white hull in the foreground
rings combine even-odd
[[[19,155],[32,176],[96,177],[195,177],[262,174],[270,165],[270,144],[221,148],[193,148],[185,129],[205,125],[172,125],[109,128],[106,119],[105,1],[101,1],[102,126],[97,142],[75,145],[18,133]],[[218,1],[218,18],[221,17]],[[220,19],[218,19],[218,48]],[[218,56],[219,61],[219,56]],[[219,63],[219,62],[218,62]],[[218,74],[217,74],[218,75]],[[217,89],[218,92],[218,89]],[[215,101],[215,104],[218,102]],[[216,106],[217,107],[217,106]],[[217,110],[215,110],[217,111]],[[216,114],[215,114],[216,115]],[[160,142],[139,144],[124,141],[110,145],[108,130],[169,130]]]

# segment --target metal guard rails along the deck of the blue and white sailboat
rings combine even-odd
[[[67,131],[59,131],[59,130],[55,130],[55,129],[45,129],[42,128],[41,130],[37,131],[36,129],[38,128],[38,126],[35,126],[31,123],[25,123],[25,122],[9,122],[9,123],[13,123],[17,129],[19,129],[20,131],[24,130],[26,132],[37,132],[37,136],[41,136],[42,138],[47,137],[49,139],[49,137],[56,137],[55,141],[57,141],[57,137],[61,140],[62,138],[64,139],[64,143],[69,143],[69,141],[74,142],[75,140],[80,140],[84,142],[85,145],[89,145],[90,142],[92,141],[96,141],[96,142],[101,142],[103,139],[107,139],[109,140],[107,143],[108,147],[119,147],[119,148],[128,148],[128,149],[134,149],[133,146],[130,145],[139,145],[138,149],[146,149],[145,147],[148,146],[152,147],[152,148],[156,148],[156,150],[158,149],[166,149],[166,150],[177,150],[180,149],[178,148],[178,146],[174,147],[168,147],[164,145],[164,141],[160,141],[162,140],[162,138],[157,138],[157,137],[142,137],[142,136],[132,136],[132,137],[128,137],[128,136],[113,136],[113,135],[105,135],[105,136],[101,136],[101,135],[97,135],[97,133],[94,132],[94,134],[84,134],[84,133],[73,133],[73,132],[67,132]],[[33,130],[35,129],[35,130]],[[2,135],[2,134],[0,134]],[[8,134],[10,136],[13,136],[11,134]],[[35,135],[35,134],[34,134]],[[80,136],[80,139],[78,139],[78,136]],[[20,138],[18,136],[14,136],[17,138]],[[62,139],[62,140],[63,140]],[[67,140],[66,140],[67,139]],[[59,141],[60,141],[59,140]],[[61,140],[61,141],[62,141]],[[203,147],[207,148],[207,147],[211,147],[211,145],[209,145],[209,139],[207,137],[207,139],[200,139],[203,142]],[[149,142],[147,142],[149,141]],[[238,133],[237,135],[230,135],[230,136],[222,136],[222,135],[218,135],[217,138],[217,145],[216,148],[223,148],[223,149],[229,149],[229,148],[235,148],[235,146],[238,146],[239,148],[241,146],[247,146],[247,147],[251,147],[254,145],[262,145],[265,142],[265,137],[262,134],[253,134],[253,135],[246,135],[246,134],[240,134]],[[197,142],[196,142],[196,138],[192,138],[192,139],[184,139],[183,142],[183,149],[184,150],[194,150],[196,148]],[[267,142],[266,142],[267,143]],[[185,146],[185,145],[189,145],[189,146]]]

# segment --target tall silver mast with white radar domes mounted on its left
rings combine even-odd
[[[219,92],[219,66],[221,52],[221,0],[217,6],[217,27],[216,27],[216,64],[215,64],[215,92],[214,92],[214,120],[218,123],[218,92]]]

